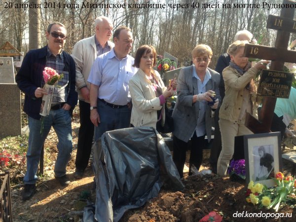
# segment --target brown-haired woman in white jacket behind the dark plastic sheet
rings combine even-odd
[[[134,67],[139,71],[129,81],[129,91],[133,109],[132,126],[152,126],[164,122],[164,103],[166,98],[173,95],[173,87],[177,82],[172,81],[172,87],[166,88],[160,75],[152,67],[156,63],[156,51],[153,46],[142,45],[135,56]]]

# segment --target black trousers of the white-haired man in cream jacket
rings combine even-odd
[[[80,128],[78,132],[77,154],[75,166],[78,170],[84,170],[89,161],[92,141],[94,136],[94,124],[90,121],[90,104],[79,100]]]

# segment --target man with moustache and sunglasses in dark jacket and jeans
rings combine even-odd
[[[77,104],[78,96],[75,92],[75,63],[63,50],[66,35],[66,28],[62,23],[49,24],[46,32],[48,44],[41,49],[29,51],[16,75],[17,85],[25,93],[24,111],[29,116],[30,129],[23,200],[30,199],[36,191],[40,153],[51,126],[59,139],[54,168],[55,178],[62,186],[70,184],[66,175],[66,166],[72,152],[71,114]],[[39,112],[42,96],[47,94],[42,88],[45,85],[42,75],[45,67],[63,74],[63,78],[54,88],[49,115],[41,118]]]

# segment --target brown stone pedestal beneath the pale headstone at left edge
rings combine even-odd
[[[21,135],[21,92],[17,84],[0,83],[0,138]]]

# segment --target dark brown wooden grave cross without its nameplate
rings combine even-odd
[[[284,0],[284,4],[294,1]],[[294,8],[282,8],[280,16],[269,15],[267,28],[277,30],[275,47],[246,44],[244,56],[271,60],[270,71],[283,71],[284,63],[296,63],[296,51],[288,50],[290,33],[296,32],[296,21],[293,20]],[[257,120],[250,113],[246,115],[245,125],[253,133],[270,132],[271,121],[276,104],[276,97],[264,97],[262,109]]]

